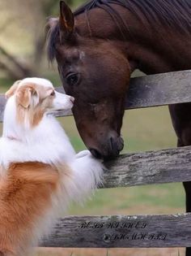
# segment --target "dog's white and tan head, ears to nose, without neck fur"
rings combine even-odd
[[[16,81],[6,92],[6,98],[13,95],[19,106],[34,108],[40,105],[46,112],[69,110],[74,102],[73,97],[57,93],[49,80],[36,77]]]

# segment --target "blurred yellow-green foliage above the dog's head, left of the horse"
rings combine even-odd
[[[72,5],[73,0],[67,0]],[[45,63],[45,24],[58,0],[0,0],[0,71],[14,80],[38,76]]]

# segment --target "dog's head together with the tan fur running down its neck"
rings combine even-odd
[[[74,98],[58,93],[49,80],[42,78],[25,78],[18,80],[6,92],[6,98],[15,98],[16,115],[19,123],[29,120],[32,125],[52,111],[70,110]]]

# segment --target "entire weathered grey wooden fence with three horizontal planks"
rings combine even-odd
[[[57,90],[62,91],[61,88]],[[5,106],[0,96],[0,120]],[[191,71],[133,78],[125,109],[191,102]],[[56,116],[71,115],[57,111]],[[191,180],[191,146],[123,154],[107,165],[104,188]],[[176,215],[68,216],[60,219],[48,247],[191,246],[191,213]]]

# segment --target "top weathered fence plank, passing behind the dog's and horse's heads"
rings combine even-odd
[[[63,92],[62,88],[57,88]],[[0,95],[0,121],[5,99]],[[125,109],[162,106],[180,102],[191,102],[191,71],[169,72],[142,76],[130,80]],[[56,116],[71,115],[71,111],[57,111]]]

